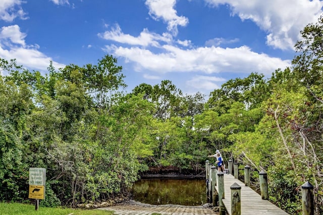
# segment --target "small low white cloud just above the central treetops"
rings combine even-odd
[[[189,88],[210,91],[210,90],[221,88],[221,84],[219,85],[214,82],[223,83],[224,81],[226,81],[226,79],[224,79],[224,78],[219,78],[219,77],[214,77],[214,76],[196,75],[192,79],[186,81],[186,85],[188,85]]]

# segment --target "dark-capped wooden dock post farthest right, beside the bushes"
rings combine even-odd
[[[313,185],[305,182],[302,185],[302,210],[303,215],[314,215]]]

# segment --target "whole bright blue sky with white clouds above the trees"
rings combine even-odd
[[[0,58],[45,73],[113,55],[131,92],[171,80],[208,95],[251,72],[290,66],[319,0],[1,0]],[[2,72],[2,71],[1,71]]]

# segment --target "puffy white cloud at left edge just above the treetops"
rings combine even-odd
[[[25,37],[26,34],[20,31],[18,25],[2,27],[0,30],[0,58],[16,59],[19,65],[45,71],[52,59],[39,52],[38,45],[26,45]],[[65,65],[53,61],[53,66],[61,68]]]

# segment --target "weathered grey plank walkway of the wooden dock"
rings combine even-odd
[[[243,182],[235,179],[231,174],[224,175],[225,198],[222,199],[224,206],[229,214],[231,214],[231,189],[230,187],[237,183],[241,186],[241,215],[287,215],[288,213],[280,209],[268,200],[261,199],[261,196],[244,185]],[[216,190],[219,192],[218,184]]]

